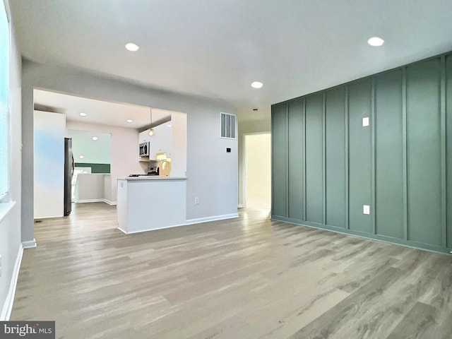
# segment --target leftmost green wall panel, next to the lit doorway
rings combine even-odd
[[[287,104],[273,105],[272,215],[287,217]]]

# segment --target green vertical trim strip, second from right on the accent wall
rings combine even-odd
[[[408,240],[407,69],[402,67],[403,239]]]

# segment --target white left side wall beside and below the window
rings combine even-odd
[[[8,1],[6,1],[8,4]],[[1,4],[0,4],[1,5]],[[20,244],[20,167],[21,167],[21,102],[20,102],[20,53],[18,52],[16,37],[11,34],[11,62],[10,62],[10,113],[11,113],[11,177],[10,192],[13,207],[0,218],[0,321],[6,320],[13,306],[13,292],[22,257]],[[32,116],[32,109],[30,115]],[[31,134],[32,135],[32,134]],[[30,168],[27,174],[30,175]],[[32,189],[32,187],[31,187]],[[29,193],[30,194],[30,193]],[[32,194],[32,193],[31,193]],[[11,206],[10,206],[11,207]],[[1,207],[0,208],[4,208]],[[32,217],[32,215],[31,215]],[[25,246],[28,244],[25,243]]]

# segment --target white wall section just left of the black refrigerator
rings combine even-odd
[[[34,217],[64,215],[64,114],[35,111]]]

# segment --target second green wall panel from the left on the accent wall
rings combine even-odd
[[[289,102],[289,218],[304,220],[304,100]]]

